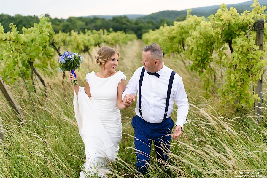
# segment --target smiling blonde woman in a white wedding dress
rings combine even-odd
[[[80,178],[104,177],[109,171],[108,163],[115,160],[119,151],[122,138],[119,109],[127,108],[121,98],[126,76],[115,71],[119,56],[116,49],[101,47],[95,56],[101,70],[86,75],[85,87],[74,85],[74,111],[86,157]],[[77,77],[76,71],[74,73]],[[74,79],[70,73],[69,80]]]

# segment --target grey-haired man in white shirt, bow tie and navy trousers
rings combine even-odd
[[[182,78],[163,63],[163,51],[157,43],[143,48],[143,67],[139,67],[128,82],[122,94],[124,106],[130,106],[138,100],[136,116],[132,119],[134,144],[136,147],[136,169],[141,173],[148,171],[152,141],[157,158],[167,162],[166,154],[170,150],[171,137],[178,138],[186,123],[188,100]],[[174,100],[177,109],[177,121],[174,134],[171,119]]]

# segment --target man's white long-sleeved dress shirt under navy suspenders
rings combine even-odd
[[[133,77],[128,82],[125,91],[122,94],[122,99],[126,94],[136,94],[139,96],[139,79],[143,67],[139,67],[133,74]],[[167,90],[169,79],[171,76],[172,69],[163,64],[162,69],[157,73],[160,75],[158,78],[154,75],[149,75],[147,71],[144,72],[144,78],[141,87],[141,111],[143,119],[149,123],[160,123],[163,120]],[[173,111],[173,103],[178,106],[177,109],[177,121],[176,125],[183,125],[186,123],[186,117],[189,109],[189,104],[187,100],[187,95],[185,93],[184,84],[182,77],[177,73],[174,75],[174,80],[171,88],[171,96],[169,101],[167,117],[170,117]],[[136,115],[141,117],[139,113],[139,98],[136,99]]]

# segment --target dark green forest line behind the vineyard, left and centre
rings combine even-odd
[[[52,27],[55,33],[62,32],[71,32],[72,30],[79,32],[82,31],[85,33],[85,29],[87,30],[97,30],[107,29],[109,31],[110,28],[113,31],[124,31],[129,34],[136,34],[136,36],[141,39],[142,34],[148,32],[150,29],[155,30],[158,29],[161,25],[166,23],[167,25],[171,25],[173,23],[172,20],[164,20],[161,19],[159,22],[155,22],[154,20],[131,20],[126,16],[117,16],[112,19],[105,19],[99,17],[69,17],[67,19],[59,19],[59,18],[51,18],[49,14],[45,14],[45,17],[50,19],[52,23]],[[185,17],[177,18],[178,21],[185,20]],[[36,15],[28,15],[23,16],[16,14],[14,16],[8,14],[0,14],[0,23],[1,26],[4,27],[4,32],[10,31],[9,24],[13,23],[17,26],[17,30],[22,32],[23,26],[25,28],[30,28],[34,23],[39,22],[39,17]]]

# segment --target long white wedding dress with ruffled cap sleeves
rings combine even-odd
[[[89,83],[91,98],[80,87],[78,96],[74,91],[74,111],[79,134],[85,144],[85,164],[80,178],[104,177],[114,161],[122,138],[120,110],[117,107],[117,88],[126,76],[117,71],[108,78],[97,77],[90,72],[85,77]]]

